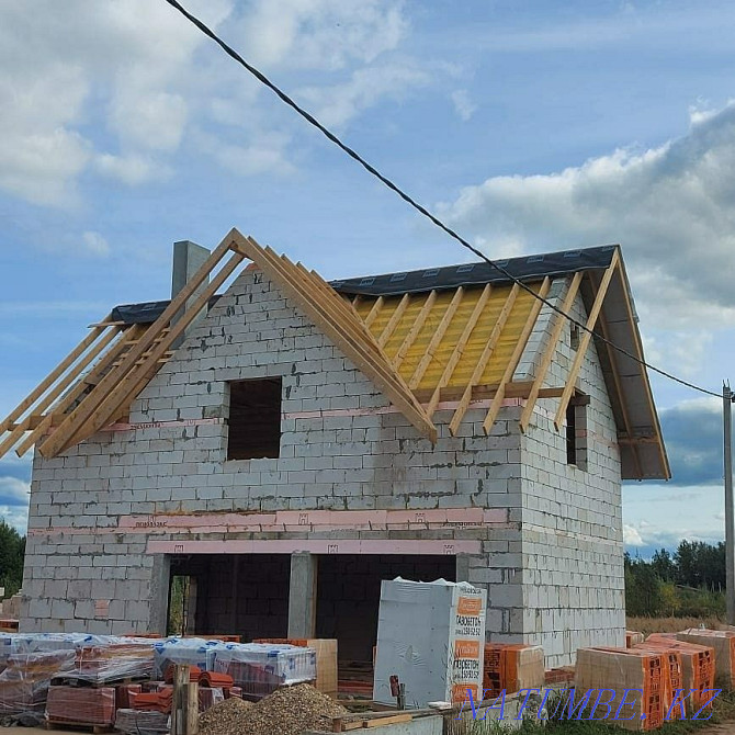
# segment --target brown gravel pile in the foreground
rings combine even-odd
[[[200,735],[301,735],[307,730],[331,731],[331,717],[347,713],[341,704],[302,683],[279,689],[252,705],[234,699],[215,704],[200,715]]]

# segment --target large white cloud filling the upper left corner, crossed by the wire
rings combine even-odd
[[[228,39],[257,64],[316,72],[332,118],[417,81],[398,69],[386,79],[359,74],[404,38],[399,0],[188,7],[215,30],[227,20]],[[82,172],[129,186],[167,178],[192,133],[213,139],[207,151],[225,168],[237,159],[245,173],[287,170],[286,146],[269,137],[276,134],[261,88],[216,49],[197,55],[205,44],[166,3],[35,0],[30,10],[0,0],[0,189],[38,204],[78,205]],[[330,72],[342,81],[335,84]]]

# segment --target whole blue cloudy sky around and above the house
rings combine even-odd
[[[728,376],[732,3],[188,7],[488,256],[621,242],[647,358]],[[3,415],[168,295],[174,240],[237,226],[327,278],[467,260],[162,0],[0,0],[0,225]],[[625,487],[629,547],[720,539],[717,402],[653,384],[675,478]],[[0,462],[19,528],[29,462]]]

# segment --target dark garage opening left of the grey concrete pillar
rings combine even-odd
[[[290,576],[289,554],[172,556],[169,631],[286,637]]]

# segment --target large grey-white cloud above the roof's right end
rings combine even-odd
[[[694,116],[677,140],[619,149],[554,173],[494,177],[466,186],[441,211],[496,257],[519,247],[620,242],[636,301],[654,326],[676,328],[702,314],[723,326],[735,316],[733,171],[730,104]]]

